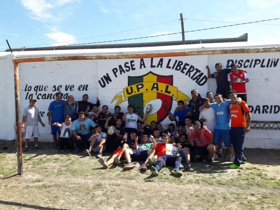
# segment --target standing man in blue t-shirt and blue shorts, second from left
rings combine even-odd
[[[57,134],[60,135],[60,129],[59,127],[56,127],[53,125],[53,123],[63,123],[63,105],[64,100],[62,99],[62,93],[57,92],[55,94],[55,101],[52,101],[48,107],[48,124],[51,126],[51,134],[53,134],[53,142],[55,143],[55,148],[57,149]]]

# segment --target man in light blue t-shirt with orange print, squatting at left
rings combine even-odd
[[[74,153],[79,152],[80,141],[84,141],[85,147],[89,147],[89,138],[92,136],[90,127],[95,127],[96,124],[89,118],[85,118],[83,111],[78,112],[79,118],[73,122],[72,138],[75,144]]]

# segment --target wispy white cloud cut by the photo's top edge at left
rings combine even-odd
[[[29,11],[29,17],[41,22],[56,20],[55,10],[70,3],[80,3],[81,0],[20,0],[23,7]],[[59,18],[58,18],[59,19]],[[57,20],[56,20],[57,21]]]

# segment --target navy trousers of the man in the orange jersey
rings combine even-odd
[[[246,160],[243,154],[244,150],[244,138],[245,128],[244,127],[231,127],[230,137],[232,140],[232,146],[235,152],[234,164],[240,166],[242,160]]]

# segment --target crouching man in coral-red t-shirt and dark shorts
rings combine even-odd
[[[203,155],[208,156],[208,163],[213,165],[212,157],[216,152],[214,144],[212,144],[213,134],[209,131],[205,126],[201,129],[201,124],[199,121],[195,121],[193,123],[193,127],[189,128],[188,131],[188,138],[195,139],[195,149],[194,149],[194,156],[195,159],[203,157]],[[194,132],[192,130],[194,129]],[[193,146],[193,142],[191,145]]]

